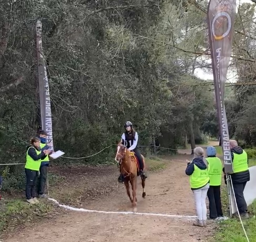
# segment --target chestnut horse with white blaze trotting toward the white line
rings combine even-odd
[[[143,162],[145,164],[144,156],[142,156]],[[126,192],[130,198],[132,207],[136,211],[137,198],[136,198],[136,189],[137,189],[137,176],[139,175],[139,164],[134,152],[130,152],[125,145],[118,143],[117,144],[117,153],[116,153],[116,162],[120,165],[120,172],[124,176],[124,183],[126,187]],[[132,188],[132,197],[130,194],[130,185]],[[145,198],[145,179],[141,177],[141,184],[143,188],[142,197]]]

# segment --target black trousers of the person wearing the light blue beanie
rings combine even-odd
[[[220,198],[220,186],[210,186],[207,192],[209,199],[210,218],[222,217],[222,206]]]

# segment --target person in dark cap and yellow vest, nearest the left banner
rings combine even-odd
[[[47,133],[44,130],[39,131],[39,139],[40,139],[40,148],[44,150],[49,150],[50,146],[46,143],[46,136]],[[49,154],[53,152],[49,150]],[[47,198],[45,194],[45,184],[47,179],[48,167],[49,167],[49,155],[46,155],[43,159],[41,159],[40,165],[40,177],[39,177],[39,184],[38,184],[38,197],[39,198]]]

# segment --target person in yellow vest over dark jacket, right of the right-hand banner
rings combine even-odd
[[[249,218],[247,203],[244,199],[244,187],[250,181],[247,153],[238,146],[237,141],[230,140],[230,150],[232,156],[233,173],[229,173],[232,180],[235,199],[237,201],[238,212],[242,218]],[[223,172],[224,168],[223,168]]]

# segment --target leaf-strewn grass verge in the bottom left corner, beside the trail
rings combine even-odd
[[[38,217],[43,217],[52,212],[54,205],[40,201],[32,205],[23,199],[8,199],[0,202],[0,231],[8,228],[14,229],[17,225],[25,225],[33,222]]]

